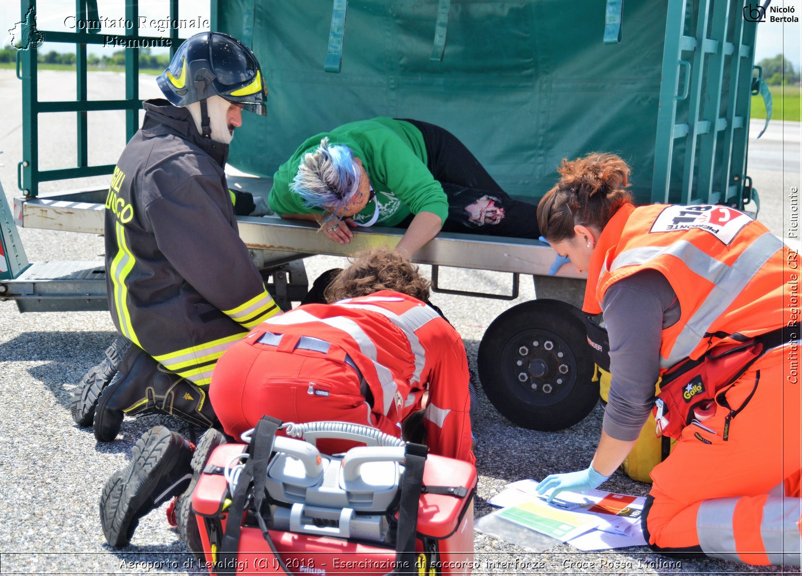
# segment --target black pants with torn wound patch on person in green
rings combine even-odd
[[[444,232],[537,238],[537,205],[512,199],[448,130],[403,119],[423,134],[427,167],[448,196]],[[401,226],[409,224],[411,218]]]

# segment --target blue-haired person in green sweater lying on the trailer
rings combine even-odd
[[[347,244],[352,228],[407,228],[411,258],[444,232],[537,238],[537,207],[512,199],[451,132],[412,119],[360,120],[314,135],[273,175],[270,208]]]

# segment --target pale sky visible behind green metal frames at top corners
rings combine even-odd
[[[304,0],[290,0],[291,2],[303,2]],[[665,0],[649,0],[650,2],[665,2]],[[602,2],[602,0],[599,0]],[[765,2],[765,0],[761,0]],[[99,10],[101,15],[108,18],[122,18],[125,14],[124,0],[99,0]],[[169,2],[166,0],[140,0],[140,16],[151,19],[168,18],[169,15]],[[793,9],[792,13],[772,14],[771,8],[788,8]],[[624,34],[626,38],[626,4],[624,5]],[[197,18],[209,19],[209,2],[205,0],[180,0],[179,14],[181,18]],[[781,23],[770,22],[769,18],[778,15],[796,16],[800,22],[795,23]],[[75,16],[75,0],[38,0],[37,2],[37,23],[43,30],[69,30],[67,26],[72,24],[72,21],[67,22],[65,26],[65,18]],[[802,46],[800,46],[800,30],[802,30],[802,0],[772,0],[769,6],[768,17],[766,22],[758,25],[758,40],[755,50],[755,62],[763,58],[771,58],[776,54],[784,54],[790,62],[793,63],[796,70],[800,69],[802,63]],[[19,2],[18,0],[2,0],[0,2],[0,42],[6,43],[8,29],[14,26],[15,22],[19,20]],[[180,34],[184,37],[194,34],[196,31],[201,30],[181,30]],[[112,30],[111,28],[103,29],[101,32],[109,34],[122,34],[123,31],[119,29]],[[144,34],[152,36],[167,35],[151,28],[144,30]],[[57,50],[65,51],[66,45],[59,45],[55,43],[46,44],[42,50]],[[103,54],[104,50],[119,50],[119,48],[110,49],[99,47],[91,47],[90,51],[95,54]],[[166,52],[166,49],[156,49],[154,52]]]

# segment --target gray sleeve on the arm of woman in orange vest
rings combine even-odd
[[[608,288],[602,311],[612,375],[602,429],[617,440],[635,440],[654,401],[662,330],[679,320],[679,300],[665,276],[644,270]]]

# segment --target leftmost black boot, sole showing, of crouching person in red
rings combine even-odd
[[[136,441],[128,465],[111,474],[100,494],[100,526],[107,542],[127,546],[140,518],[186,489],[193,446],[164,426]]]

